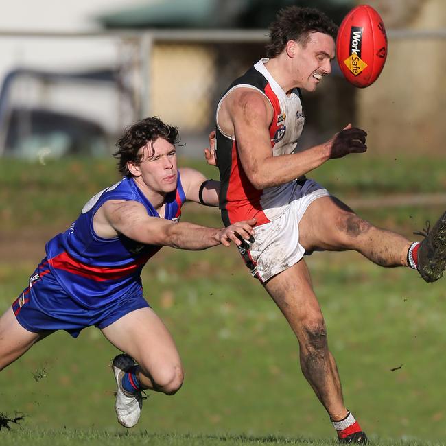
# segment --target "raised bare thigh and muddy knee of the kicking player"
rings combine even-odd
[[[347,250],[372,227],[338,198],[321,197],[309,205],[299,222],[299,243],[305,250]]]

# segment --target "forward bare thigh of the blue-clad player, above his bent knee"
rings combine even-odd
[[[102,333],[150,375],[165,375],[166,369],[182,373],[175,342],[152,308],[134,310],[102,329]],[[167,374],[170,374],[169,371]]]

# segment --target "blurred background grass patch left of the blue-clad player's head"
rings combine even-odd
[[[62,230],[86,200],[119,180],[113,159],[64,159],[47,164],[5,159],[0,163],[3,231],[19,227]]]

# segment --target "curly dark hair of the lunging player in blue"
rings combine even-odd
[[[113,154],[118,159],[118,170],[125,176],[131,175],[128,171],[128,161],[137,165],[141,164],[143,154],[138,153],[149,141],[154,143],[156,139],[165,139],[175,145],[180,141],[178,128],[164,124],[157,116],[142,119],[126,129],[122,137],[117,141],[117,152]]]

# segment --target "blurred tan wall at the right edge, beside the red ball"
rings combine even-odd
[[[375,84],[357,94],[358,121],[380,152],[445,153],[446,2],[369,0],[388,30]]]

